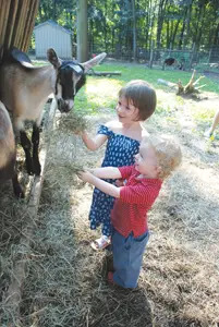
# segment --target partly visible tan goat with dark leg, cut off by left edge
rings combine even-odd
[[[24,197],[15,170],[16,147],[15,137],[9,112],[0,101],[0,183],[12,179],[14,194]]]

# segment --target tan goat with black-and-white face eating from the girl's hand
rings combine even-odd
[[[25,152],[28,174],[40,174],[39,132],[48,96],[53,93],[58,109],[69,112],[73,108],[76,93],[86,82],[86,72],[106,56],[102,52],[89,61],[78,63],[73,60],[62,61],[53,49],[48,49],[47,58],[51,65],[36,68],[16,48],[4,52],[0,63],[0,100],[12,112],[14,131],[20,133],[21,145]],[[25,133],[26,120],[34,122],[32,142]]]

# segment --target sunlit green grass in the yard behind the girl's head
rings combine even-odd
[[[96,77],[88,76],[87,84],[78,93],[80,96],[75,98],[75,108],[78,111],[86,111],[88,114],[96,114],[100,108],[110,108],[114,109],[118,100],[119,89],[125,85],[126,82],[134,78],[142,78],[150,83],[156,90],[166,92],[173,95],[173,92],[170,90],[168,86],[163,86],[157,83],[158,78],[167,80],[170,82],[177,82],[179,78],[185,85],[191,78],[191,72],[181,72],[181,71],[161,71],[161,70],[149,70],[145,65],[139,64],[112,64],[106,63],[99,65],[97,71],[120,71],[121,76],[112,77]],[[130,74],[132,71],[132,74]],[[198,78],[197,74],[197,78]],[[109,83],[110,82],[110,83]],[[219,84],[210,81],[208,77],[203,78],[203,84],[206,86],[202,89],[202,93],[215,93],[219,95]],[[208,96],[208,95],[207,95]],[[174,102],[174,104],[173,104]],[[187,100],[181,96],[174,96],[174,101],[167,101],[162,96],[158,96],[158,106],[156,113],[160,116],[172,114],[172,110],[175,108],[185,106]],[[217,106],[214,102],[212,105],[207,105],[206,107],[197,106],[197,102],[191,105],[191,116],[197,125],[207,126],[210,125],[212,118],[215,116]],[[171,118],[169,118],[171,119]]]

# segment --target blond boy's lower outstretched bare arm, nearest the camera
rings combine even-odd
[[[101,168],[99,168],[100,170]],[[102,168],[104,169],[104,168]],[[117,169],[117,168],[115,168]],[[98,169],[97,169],[98,170]],[[118,169],[119,170],[119,169]],[[100,173],[97,172],[96,173]],[[100,173],[101,174],[101,173]],[[120,174],[121,175],[121,174]],[[106,194],[109,194],[113,197],[120,197],[120,187],[117,187],[108,182],[102,181],[100,178],[94,175],[93,173],[86,171],[82,171],[80,173],[80,178],[84,181],[84,182],[88,182],[89,184],[96,186],[97,189],[99,189],[100,191],[102,191]],[[109,178],[109,174],[108,174]]]

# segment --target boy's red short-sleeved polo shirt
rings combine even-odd
[[[147,211],[157,198],[162,181],[159,179],[137,179],[139,172],[134,166],[119,167],[122,179],[127,179],[121,187],[120,198],[115,198],[111,211],[114,229],[124,238],[133,232],[134,238],[147,231]]]

